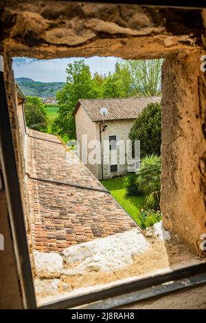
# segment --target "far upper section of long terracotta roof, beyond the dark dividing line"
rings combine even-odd
[[[34,137],[58,141],[54,135],[47,135],[34,130],[30,130],[30,134]],[[100,181],[95,178],[86,166],[83,164],[69,164],[69,161],[67,161],[69,155],[71,153],[65,150],[63,144],[55,144],[29,137],[27,171],[34,177],[104,189]]]

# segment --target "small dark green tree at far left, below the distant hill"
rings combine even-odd
[[[30,129],[47,131],[47,113],[41,99],[36,96],[27,96],[24,109],[26,124]]]

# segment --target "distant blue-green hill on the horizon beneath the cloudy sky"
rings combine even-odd
[[[65,85],[65,82],[38,82],[32,78],[16,78],[16,83],[25,96],[38,96],[38,98],[56,96],[56,92]]]

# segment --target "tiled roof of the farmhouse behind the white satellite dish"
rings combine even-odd
[[[151,102],[161,102],[159,96],[141,96],[138,98],[113,98],[113,99],[80,99],[73,115],[82,106],[93,121],[101,121],[100,109],[106,107],[108,114],[105,120],[135,119],[137,115]]]

